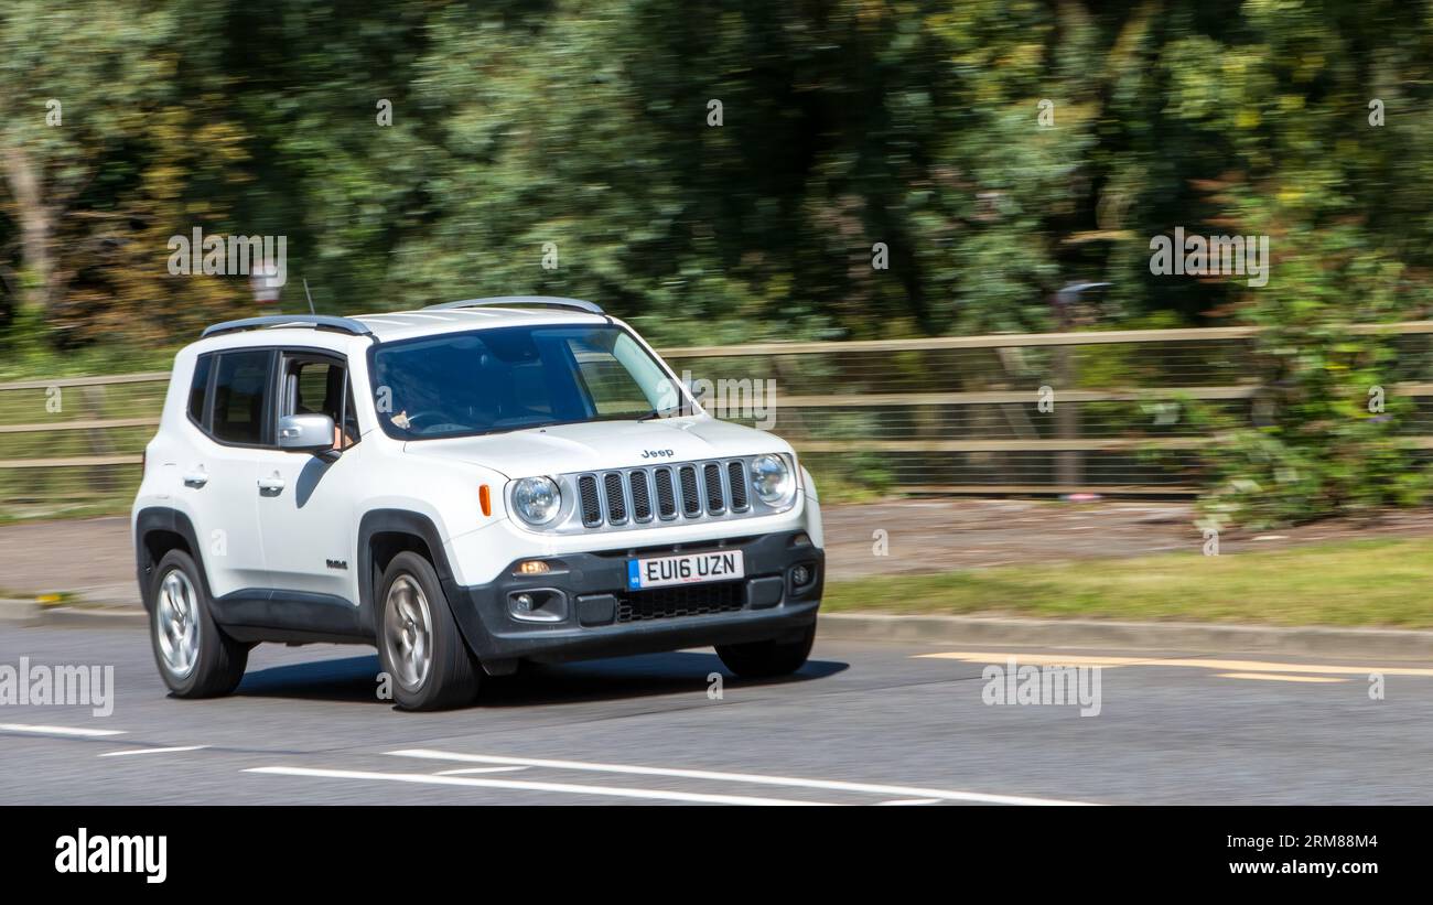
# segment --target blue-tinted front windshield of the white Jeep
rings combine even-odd
[[[380,344],[371,372],[378,422],[400,440],[643,418],[679,402],[642,344],[606,324],[502,326]]]

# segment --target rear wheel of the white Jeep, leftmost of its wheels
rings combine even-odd
[[[171,574],[176,576],[171,584],[176,589],[173,591],[166,589]],[[188,553],[171,550],[159,560],[149,587],[149,644],[159,677],[175,697],[218,697],[239,686],[249,662],[249,646],[231,639],[214,621],[203,576]],[[186,642],[191,621],[198,633],[192,642],[192,662],[173,653],[181,646],[179,639],[185,639],[185,650],[191,649]]]

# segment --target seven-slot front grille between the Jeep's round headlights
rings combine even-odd
[[[653,520],[745,513],[751,508],[744,460],[651,465],[577,477],[577,510],[588,528]]]

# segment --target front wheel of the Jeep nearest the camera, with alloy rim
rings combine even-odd
[[[400,581],[408,584],[394,597],[394,586]],[[421,604],[413,594],[414,584],[421,591]],[[394,703],[404,710],[444,710],[471,703],[477,697],[481,667],[459,631],[433,564],[410,551],[393,557],[378,583],[377,603],[378,662],[393,680]],[[421,613],[428,624],[427,666],[421,673],[414,672],[414,659],[407,656],[413,650],[407,639],[414,623],[408,621],[404,607]]]

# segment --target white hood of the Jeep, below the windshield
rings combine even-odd
[[[473,463],[509,478],[791,452],[771,434],[715,418],[555,424],[483,437],[410,440],[404,450]]]

